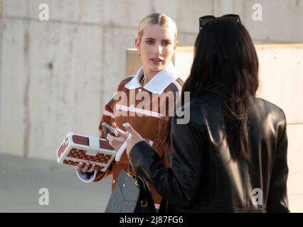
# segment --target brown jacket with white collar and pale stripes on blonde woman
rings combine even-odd
[[[174,101],[174,104],[171,105],[171,101],[169,104],[169,99],[161,99],[161,96],[174,94],[174,98],[179,99],[183,82],[179,79],[179,74],[176,72],[172,63],[164,70],[158,72],[146,85],[144,85],[144,87],[139,83],[142,76],[143,68],[141,67],[135,76],[127,77],[119,83],[117,92],[115,92],[112,99],[105,105],[105,110],[99,126],[101,133],[100,137],[104,138],[104,133],[102,131],[103,122],[106,122],[109,125],[112,125],[112,123],[115,122],[117,126],[122,129],[123,123],[128,122],[132,125],[134,130],[142,135],[144,139],[148,140],[154,150],[159,153],[161,162],[164,165],[169,166],[169,150],[165,150],[165,148],[161,146],[161,143],[163,142],[164,135],[166,135],[167,131],[167,116],[171,116],[169,115],[171,109],[173,109],[174,112],[176,100]],[[120,92],[127,94],[127,101],[118,99]],[[144,94],[149,94],[150,99],[145,100],[142,99],[142,97],[140,99],[140,93],[142,92],[144,92]],[[158,100],[157,102],[156,99]],[[155,104],[154,106],[157,108],[153,108],[153,104]],[[93,174],[77,172],[77,175],[83,182],[97,182],[100,179],[112,175],[113,189],[120,170],[127,170],[128,165],[129,160],[127,154],[124,152],[119,162],[115,162],[114,160],[106,172],[95,170]],[[132,172],[132,174],[134,174],[134,172]],[[149,185],[151,187],[151,194],[154,197],[155,207],[156,209],[159,209],[161,196],[156,192],[152,184]]]

